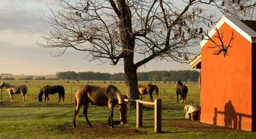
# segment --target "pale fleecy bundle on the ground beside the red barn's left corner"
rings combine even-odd
[[[200,108],[196,104],[186,105],[184,107],[186,112],[185,119],[199,120],[200,119]]]

